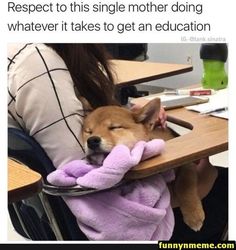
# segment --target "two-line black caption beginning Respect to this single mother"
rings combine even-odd
[[[7,12],[13,19],[7,23],[9,32],[209,32],[210,22],[199,16],[204,13],[203,4],[173,1],[143,1],[142,3],[110,1],[109,3],[89,1],[65,1],[24,3],[9,1]],[[186,20],[181,18],[187,15]],[[20,14],[20,15],[19,15]],[[156,18],[142,18],[150,15]],[[50,15],[54,19],[37,19],[39,15]],[[96,15],[89,19],[88,16]],[[126,15],[126,17],[124,16]],[[128,15],[128,18],[127,18]],[[139,16],[132,20],[133,16]],[[65,18],[65,16],[67,16]],[[68,16],[70,20],[68,21]],[[176,18],[172,18],[176,17]],[[48,20],[48,21],[46,21]],[[145,20],[145,21],[144,21]],[[155,20],[155,21],[153,21]],[[178,21],[177,21],[178,20]],[[199,21],[201,20],[201,21]]]

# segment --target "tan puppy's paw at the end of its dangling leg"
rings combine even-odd
[[[200,231],[205,220],[205,213],[202,208],[196,208],[191,213],[185,213],[184,222],[195,232]]]

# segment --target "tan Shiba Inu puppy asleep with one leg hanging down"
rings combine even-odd
[[[170,140],[176,137],[171,129],[156,126],[160,99],[156,98],[138,111],[119,106],[95,109],[84,119],[83,140],[87,158],[101,165],[106,155],[118,144],[130,149],[140,140],[154,138]],[[195,231],[203,225],[205,214],[197,191],[197,173],[191,164],[176,170],[173,192],[178,200],[185,223]]]

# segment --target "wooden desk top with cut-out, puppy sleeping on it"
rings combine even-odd
[[[127,178],[149,176],[228,149],[228,120],[199,115],[185,108],[168,110],[167,115],[171,122],[190,131],[167,141],[161,155],[141,162],[127,173]]]

